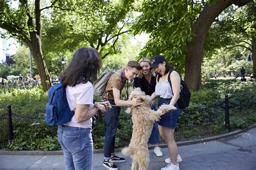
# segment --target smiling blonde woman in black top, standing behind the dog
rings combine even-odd
[[[142,70],[140,70],[138,77],[134,79],[133,86],[136,88],[139,87],[146,93],[146,95],[151,96],[154,93],[154,89],[156,87],[156,74],[152,69],[150,69],[151,61],[147,58],[142,58],[139,61],[139,65],[142,66]],[[151,109],[157,110],[157,106],[154,101],[152,101],[150,104]],[[160,138],[157,122],[154,122],[148,143],[154,144],[154,153],[156,153],[158,157],[163,156],[161,148],[158,146],[160,143]]]

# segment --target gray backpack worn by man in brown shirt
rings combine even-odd
[[[117,75],[119,75],[121,77],[121,75],[119,73],[117,73],[116,70],[110,69],[109,67],[107,67],[107,69],[105,69],[104,72],[100,73],[98,79],[96,80],[96,82],[94,84],[94,95],[95,96],[103,95],[105,88],[106,88],[107,81],[109,81],[109,78],[113,73],[116,73]]]

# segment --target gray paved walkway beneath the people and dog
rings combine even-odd
[[[150,150],[148,169],[166,166],[167,148],[162,149],[164,156],[156,157]],[[209,141],[206,143],[179,146],[178,152],[183,159],[180,169],[256,169],[256,128],[237,136]],[[119,156],[124,156],[118,153]],[[131,169],[131,158],[117,163],[119,169]],[[103,154],[93,155],[93,169],[106,169],[102,165]],[[0,155],[0,169],[65,169],[63,155]]]

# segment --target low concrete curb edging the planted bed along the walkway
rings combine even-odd
[[[177,142],[177,146],[184,146],[184,145],[192,145],[192,144],[198,144],[198,143],[204,143],[206,141],[212,141],[212,140],[218,140],[218,139],[224,139],[227,137],[235,136],[237,134],[240,134],[242,132],[248,131],[250,129],[256,128],[256,124],[249,126],[242,130],[236,130],[230,133],[220,134],[218,136],[204,138],[204,139],[198,139],[198,140],[189,140],[189,141],[180,141]],[[159,145],[162,148],[166,148],[166,144],[160,144]],[[153,145],[149,145],[149,149],[153,149]],[[116,148],[116,152],[121,152],[123,148]],[[93,153],[104,153],[103,149],[94,150]],[[63,155],[63,151],[4,151],[0,150],[0,155]]]

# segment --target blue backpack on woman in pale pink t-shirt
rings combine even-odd
[[[75,114],[70,110],[68,100],[66,100],[65,86],[61,80],[59,82],[49,89],[48,103],[45,107],[44,121],[51,126],[67,123]]]

